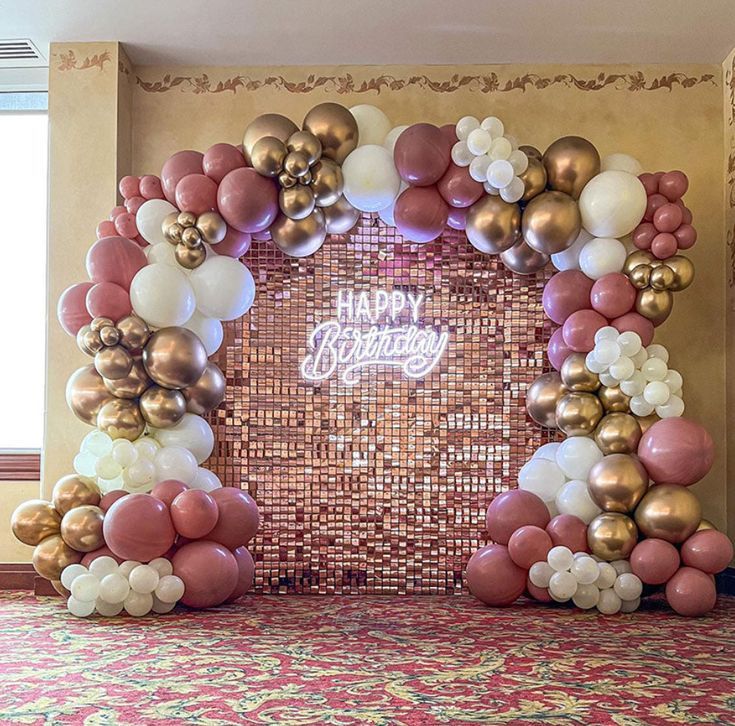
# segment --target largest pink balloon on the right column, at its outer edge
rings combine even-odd
[[[688,487],[712,468],[715,445],[698,423],[683,417],[664,418],[641,437],[638,458],[653,481]]]

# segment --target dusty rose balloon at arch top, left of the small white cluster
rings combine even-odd
[[[414,124],[398,137],[393,159],[403,181],[425,187],[442,178],[451,161],[451,148],[447,136],[433,124]]]

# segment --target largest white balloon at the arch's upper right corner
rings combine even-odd
[[[582,226],[595,237],[625,237],[643,219],[647,203],[638,177],[625,171],[600,172],[579,196]]]

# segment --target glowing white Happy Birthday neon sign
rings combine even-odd
[[[364,368],[394,366],[409,378],[423,378],[449,341],[449,333],[420,325],[423,303],[423,294],[401,290],[339,290],[336,317],[309,335],[301,374],[323,381],[339,370],[342,382],[354,386]]]

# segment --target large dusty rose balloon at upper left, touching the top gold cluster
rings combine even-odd
[[[239,232],[261,232],[278,214],[278,187],[255,169],[235,169],[219,185],[217,205],[225,222]]]

